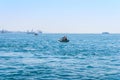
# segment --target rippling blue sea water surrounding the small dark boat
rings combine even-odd
[[[120,80],[120,34],[0,34],[0,80]]]

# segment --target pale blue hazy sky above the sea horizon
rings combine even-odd
[[[120,33],[120,0],[0,0],[0,29]]]

